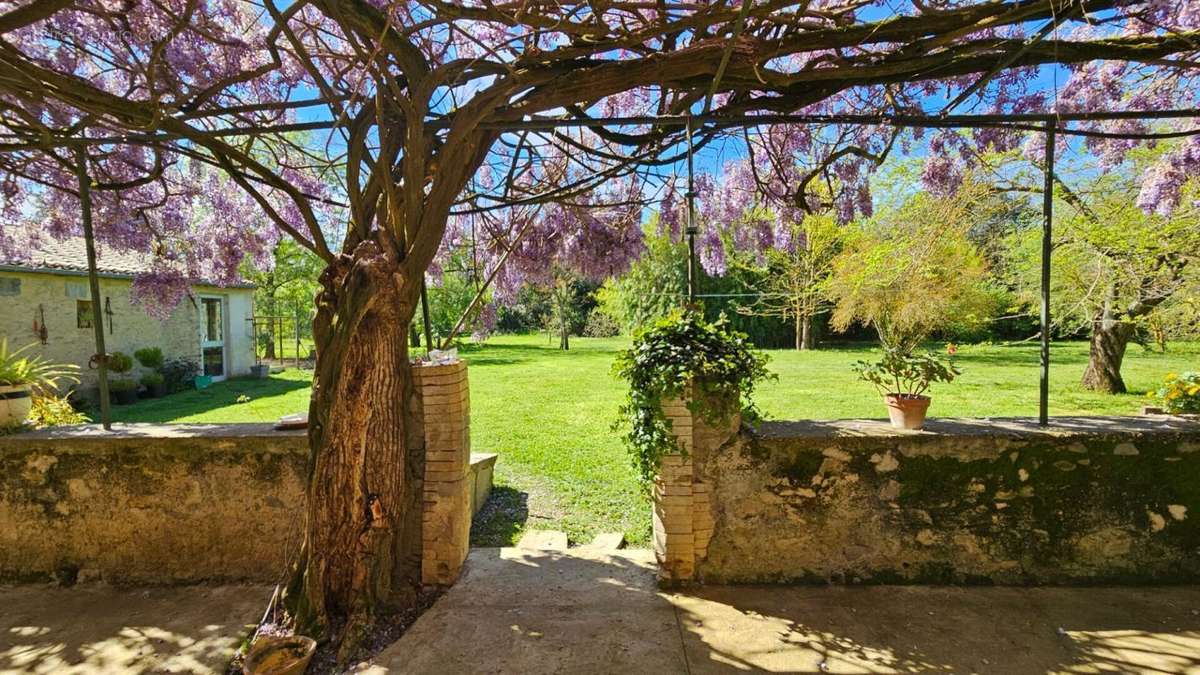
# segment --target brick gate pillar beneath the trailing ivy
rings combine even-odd
[[[742,420],[736,416],[730,428],[714,429],[696,419],[682,400],[666,401],[662,412],[686,455],[664,456],[654,480],[654,555],[661,580],[690,581],[713,538],[712,485],[702,467],[737,432]]]

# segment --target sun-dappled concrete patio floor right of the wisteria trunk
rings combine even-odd
[[[1189,673],[1200,587],[706,586],[653,556],[475,549],[368,673]]]

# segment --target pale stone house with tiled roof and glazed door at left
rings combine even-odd
[[[96,342],[84,240],[55,241],[47,249],[26,261],[0,259],[0,336],[7,336],[10,347],[40,344],[47,359],[78,365],[79,393],[95,395],[96,371],[88,368]],[[250,372],[252,285],[197,282],[170,317],[160,321],[130,301],[133,277],[150,267],[148,255],[102,249],[96,265],[109,352],[132,357],[142,347],[160,347],[168,359],[192,359],[216,381]],[[134,365],[132,375],[138,376],[142,369]]]

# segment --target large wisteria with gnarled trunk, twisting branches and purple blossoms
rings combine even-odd
[[[1190,106],[1198,24],[1195,0],[7,0],[0,243],[19,252],[74,233],[78,172],[101,241],[160,253],[139,285],[148,303],[168,306],[202,268],[232,274],[278,235],[322,258],[308,507],[287,604],[300,631],[348,655],[419,583],[422,434],[404,327],[450,216],[570,203],[673,162],[680,137],[665,124],[499,125],[828,101],[904,112],[960,92],[972,109],[1037,109],[1052,104],[1036,92],[1043,65],[1098,59],[1118,77],[1085,66],[1097,104],[1136,106],[1136,89]],[[331,132],[290,133],[314,129]],[[332,219],[342,241],[326,237]]]

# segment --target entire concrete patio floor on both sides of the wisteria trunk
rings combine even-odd
[[[0,587],[0,673],[221,673],[270,589]],[[1200,587],[710,586],[475,549],[361,673],[1200,673]]]

